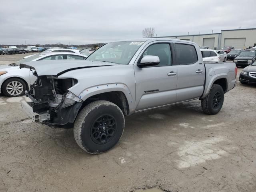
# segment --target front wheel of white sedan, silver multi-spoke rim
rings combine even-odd
[[[19,78],[10,78],[2,85],[3,94],[7,97],[18,97],[24,95],[26,83]]]

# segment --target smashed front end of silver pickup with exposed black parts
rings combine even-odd
[[[76,83],[74,78],[38,76],[25,92],[32,101],[23,101],[22,108],[38,123],[50,126],[73,123],[82,106],[82,100],[68,91]]]

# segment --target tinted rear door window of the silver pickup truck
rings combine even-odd
[[[198,61],[196,48],[193,45],[176,43],[175,48],[178,65],[189,65]]]

